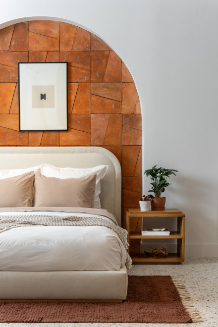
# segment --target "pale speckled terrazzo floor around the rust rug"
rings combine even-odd
[[[218,327],[218,259],[186,259],[182,265],[133,265],[131,275],[178,276],[204,322],[196,324],[0,324],[0,327]]]

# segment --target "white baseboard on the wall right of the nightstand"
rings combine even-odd
[[[186,258],[218,258],[218,244],[185,244]]]

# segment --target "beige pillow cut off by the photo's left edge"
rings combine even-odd
[[[0,207],[31,207],[34,171],[0,179]]]

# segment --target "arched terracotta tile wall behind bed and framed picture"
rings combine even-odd
[[[68,62],[68,131],[19,132],[18,62]],[[0,146],[102,146],[122,167],[122,207],[138,207],[142,121],[133,79],[86,30],[29,21],[0,30]]]

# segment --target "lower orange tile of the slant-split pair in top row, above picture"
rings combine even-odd
[[[29,32],[29,51],[59,51],[59,39]]]

